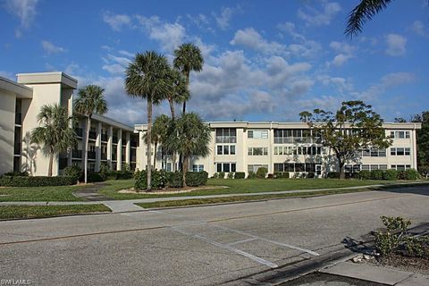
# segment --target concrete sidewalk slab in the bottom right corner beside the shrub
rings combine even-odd
[[[377,282],[386,285],[429,285],[429,276],[426,275],[380,266],[359,265],[351,262],[340,262],[336,265],[324,268],[319,272],[340,275],[369,282]]]

